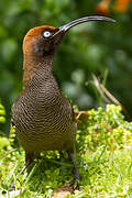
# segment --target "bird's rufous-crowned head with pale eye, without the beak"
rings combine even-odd
[[[38,58],[53,54],[62,37],[59,34],[54,36],[57,32],[58,29],[47,25],[31,29],[24,37],[23,53]]]

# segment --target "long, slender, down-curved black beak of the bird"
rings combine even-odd
[[[100,15],[86,16],[86,18],[80,18],[80,19],[74,20],[74,21],[66,23],[65,25],[58,28],[58,31],[54,35],[59,34],[59,33],[66,33],[73,26],[78,25],[80,23],[88,22],[88,21],[106,21],[106,22],[116,23],[116,20],[106,18],[106,16],[100,16]]]

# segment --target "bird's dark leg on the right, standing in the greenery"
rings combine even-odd
[[[70,158],[70,161],[72,161],[72,163],[74,165],[74,182],[73,182],[73,185],[76,185],[76,188],[79,188],[78,182],[80,180],[80,176],[79,176],[79,173],[78,173],[78,169],[77,169],[77,164],[76,164],[76,158],[75,158],[74,152],[67,151],[67,153],[68,153],[68,156],[69,156],[69,158]]]

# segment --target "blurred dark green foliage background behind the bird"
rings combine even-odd
[[[122,6],[120,3],[123,3]],[[123,0],[1,0],[0,98],[7,111],[2,131],[9,132],[10,109],[22,88],[22,41],[36,25],[59,26],[80,16],[105,14],[118,24],[89,22],[69,31],[54,59],[63,92],[78,108],[96,108],[99,94],[90,82],[100,81],[132,116],[132,3]]]

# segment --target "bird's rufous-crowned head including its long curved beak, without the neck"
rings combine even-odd
[[[54,54],[58,44],[62,42],[62,38],[70,28],[88,21],[116,22],[113,19],[110,18],[94,15],[77,19],[69,23],[66,23],[61,28],[46,25],[36,26],[34,29],[31,29],[25,35],[23,42],[23,53],[33,54],[38,58]]]

